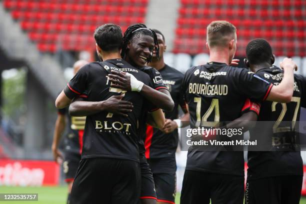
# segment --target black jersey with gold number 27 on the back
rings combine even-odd
[[[283,70],[271,66],[256,72],[265,80],[277,85],[283,78]],[[252,140],[264,138],[271,151],[249,151],[247,179],[277,175],[303,175],[303,163],[298,145],[300,107],[306,107],[306,78],[294,74],[294,90],[291,102],[263,101],[256,126],[250,130]],[[265,122],[260,122],[265,121]],[[294,126],[292,126],[294,125]],[[257,131],[260,128],[260,132]],[[263,135],[262,135],[263,134]]]

